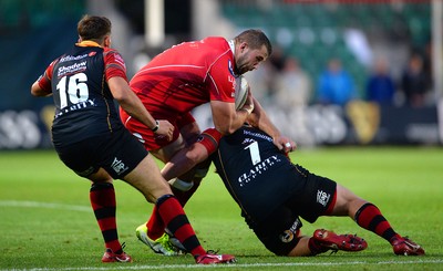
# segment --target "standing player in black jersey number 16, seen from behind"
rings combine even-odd
[[[127,84],[120,53],[111,49],[111,21],[84,15],[79,42],[55,59],[31,86],[35,96],[53,96],[52,142],[60,159],[92,181],[90,200],[105,242],[103,262],[131,262],[119,240],[113,179],[140,190],[174,234],[202,264],[233,262],[229,254],[207,252],[169,185],[143,145],[124,128],[114,100],[157,135],[172,139],[174,126],[156,121]]]

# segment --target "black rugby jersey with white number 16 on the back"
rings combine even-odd
[[[123,128],[105,80],[106,64],[113,64],[105,63],[105,53],[117,54],[100,46],[75,44],[71,52],[54,61],[51,86],[55,104],[52,126],[55,146]],[[117,56],[121,59],[120,54]]]

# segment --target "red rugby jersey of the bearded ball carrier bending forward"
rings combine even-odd
[[[234,53],[224,38],[184,42],[155,56],[131,80],[147,111],[183,114],[209,101],[235,101]]]

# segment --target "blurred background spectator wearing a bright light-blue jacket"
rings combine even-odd
[[[328,69],[320,74],[317,101],[321,104],[346,105],[357,97],[351,75],[342,69],[341,61],[332,58]]]

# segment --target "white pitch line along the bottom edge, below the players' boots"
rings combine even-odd
[[[411,260],[411,261],[352,261],[352,262],[288,262],[288,263],[231,263],[231,264],[216,264],[216,265],[198,265],[198,264],[162,264],[162,265],[130,265],[124,263],[122,265],[110,264],[110,267],[96,268],[32,268],[32,269],[11,269],[13,271],[71,271],[71,270],[163,270],[163,269],[195,269],[195,268],[271,268],[271,267],[339,267],[339,265],[384,265],[384,264],[423,264],[423,263],[443,263],[443,260]],[[400,267],[399,267],[400,268]],[[0,269],[0,271],[10,271],[9,269]]]

